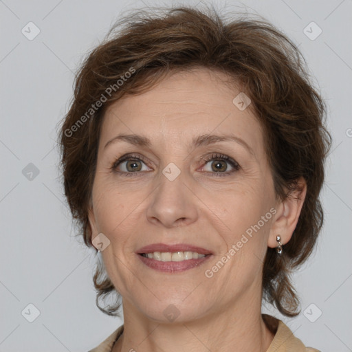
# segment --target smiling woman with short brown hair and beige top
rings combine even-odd
[[[300,53],[269,23],[137,12],[80,69],[65,195],[124,325],[92,351],[318,351],[289,273],[322,226],[330,135]],[[107,275],[105,275],[107,274]],[[100,307],[117,315],[119,305]]]

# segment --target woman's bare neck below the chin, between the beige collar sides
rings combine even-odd
[[[248,305],[250,303],[250,305]],[[266,352],[274,338],[261,316],[261,306],[246,305],[173,324],[152,322],[124,306],[124,333],[113,352],[231,351]],[[242,309],[241,309],[242,307]],[[133,314],[129,314],[129,313]]]

